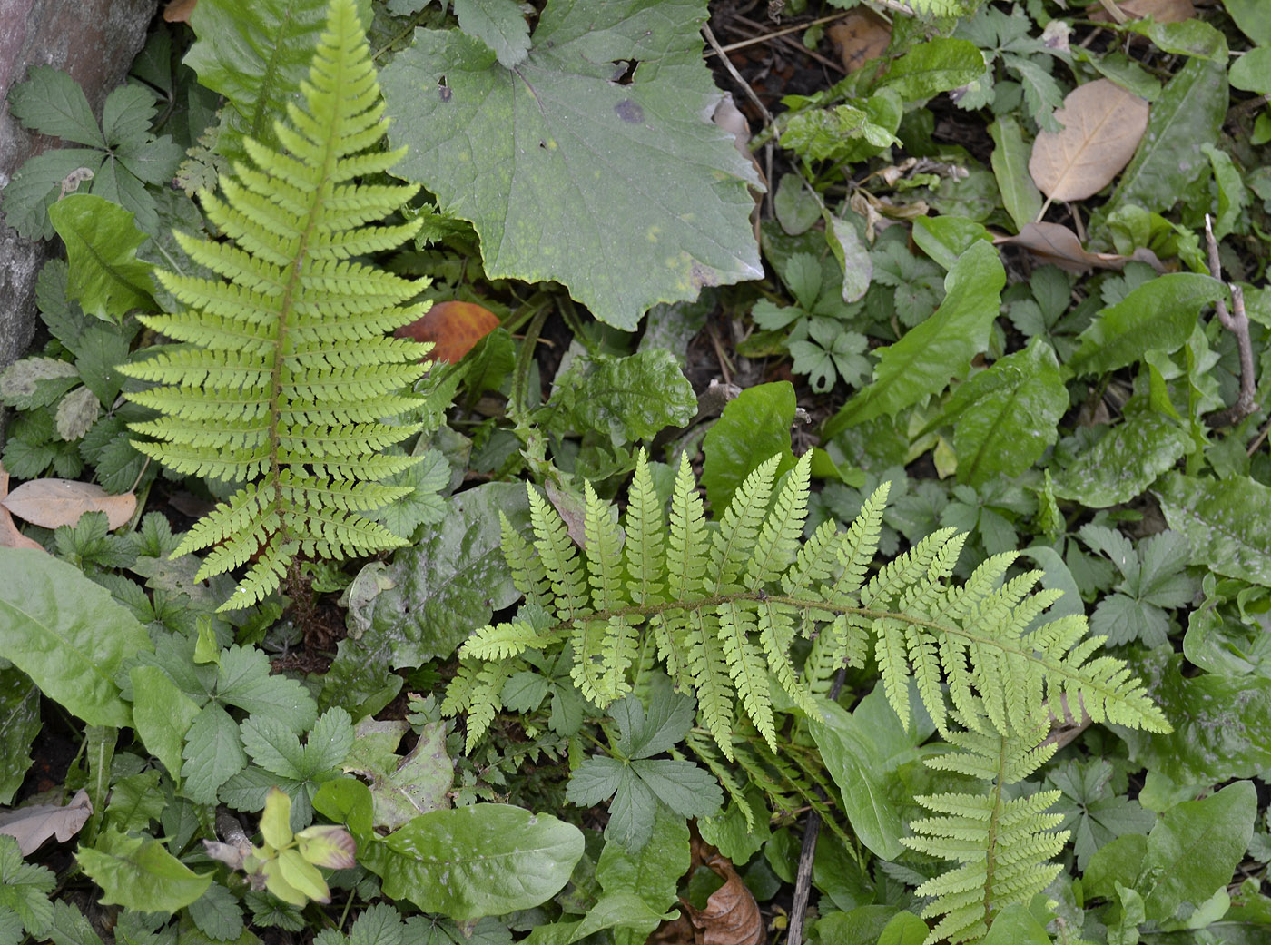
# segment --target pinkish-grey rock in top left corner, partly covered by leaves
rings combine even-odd
[[[0,102],[50,65],[84,86],[100,117],[107,94],[123,83],[146,39],[156,0],[0,0]],[[28,133],[0,104],[0,188],[32,155],[56,138]],[[0,211],[4,194],[0,193]],[[0,222],[0,367],[19,358],[36,332],[36,276],[55,243],[29,243]]]

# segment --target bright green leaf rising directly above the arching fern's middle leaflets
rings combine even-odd
[[[747,387],[728,401],[702,446],[702,485],[712,508],[728,508],[737,486],[769,456],[782,455],[777,475],[793,469],[794,408],[794,386],[789,381]]]

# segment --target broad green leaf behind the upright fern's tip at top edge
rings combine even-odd
[[[186,65],[198,81],[224,95],[231,133],[220,150],[241,160],[243,137],[277,147],[273,122],[300,91],[314,47],[327,25],[327,0],[202,0],[189,17],[198,37]],[[371,23],[370,0],[358,0],[362,25]]]

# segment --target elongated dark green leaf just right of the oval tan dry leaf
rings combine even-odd
[[[1148,131],[1121,175],[1108,212],[1130,204],[1163,211],[1204,194],[1209,161],[1201,146],[1218,142],[1225,116],[1225,65],[1187,60],[1153,103]]]

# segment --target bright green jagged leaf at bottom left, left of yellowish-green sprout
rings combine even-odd
[[[201,897],[212,874],[198,874],[150,837],[132,837],[114,828],[97,846],[80,848],[84,873],[102,887],[103,903],[142,912],[175,912]]]

